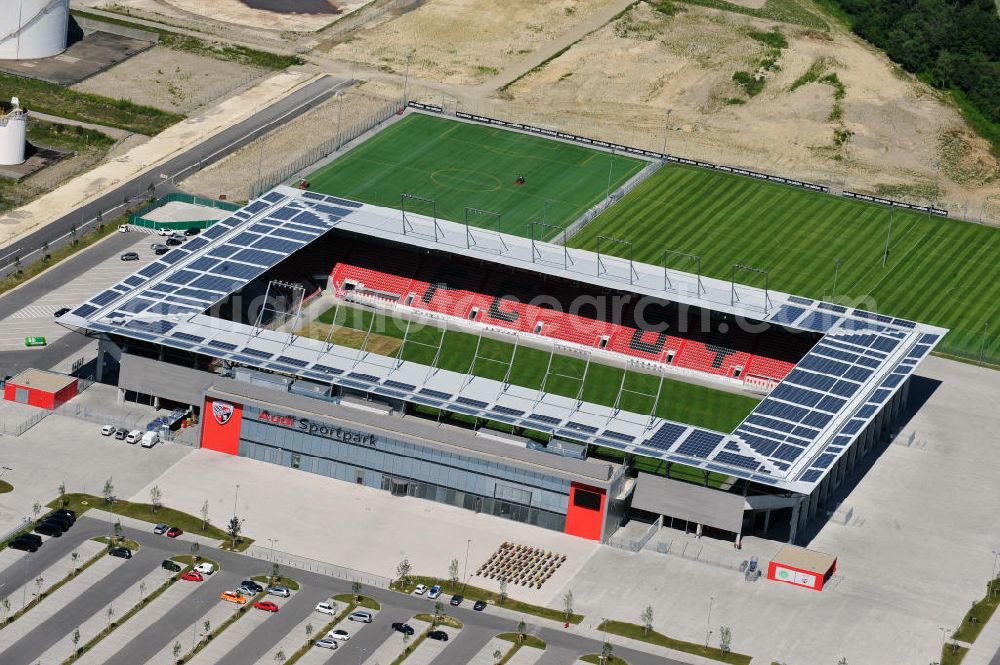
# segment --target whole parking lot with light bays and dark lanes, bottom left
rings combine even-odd
[[[501,616],[492,607],[483,612],[472,611],[468,603],[450,607],[447,598],[441,600],[448,614],[465,623],[463,628],[439,626],[449,636],[447,641],[419,639],[431,628],[415,618],[433,611],[434,601],[426,595],[404,596],[366,588],[363,593],[375,597],[381,609],[372,611],[371,623],[350,621],[346,618],[348,603],[332,598],[349,593],[348,582],[292,568],[280,571],[299,585],[290,597],[263,592],[248,597],[247,609],[241,612],[243,606],[222,600],[220,594],[238,587],[242,580],[266,575],[266,562],[204,548],[202,556],[215,561],[218,569],[205,575],[203,581],[186,581],[161,568],[164,559],[190,553],[186,541],[155,535],[152,525],[148,530],[125,528],[124,537],[136,541],[139,549],[131,559],[122,559],[107,556],[102,546],[90,540],[107,533],[108,525],[103,520],[82,516],[62,537],[45,538],[35,553],[0,552],[0,599],[10,599],[12,612],[20,609],[21,595],[30,606],[33,594],[47,588],[46,583],[36,589],[34,580],[45,578],[54,584],[69,577],[73,566],[67,557],[72,552],[80,554],[76,565],[83,568],[4,628],[0,633],[0,662],[61,663],[73,650],[76,630],[77,644],[82,646],[109,625],[114,629],[76,662],[169,665],[176,651],[185,662],[197,665],[273,663],[278,651],[289,657],[307,641],[337,629],[347,633],[347,639],[338,640],[338,648],[313,646],[298,662],[384,664],[392,662],[407,645],[416,645],[407,658],[408,664],[487,663],[493,662],[496,647],[506,650],[511,646],[495,639],[498,633],[513,629],[511,618]],[[28,585],[26,591],[22,584]],[[259,600],[274,602],[278,611],[257,609],[253,604]],[[316,611],[320,602],[333,604],[336,614]],[[405,642],[402,633],[392,627],[398,622],[414,629]],[[545,634],[547,630],[540,632]],[[204,640],[209,633],[212,639]],[[553,662],[572,663],[577,655],[594,650],[592,640],[568,634],[561,637],[577,646],[567,651],[568,659]],[[522,651],[511,662],[540,662],[541,651]],[[554,653],[562,652],[557,648]],[[664,661],[650,656],[650,660],[639,658],[636,662],[641,665]]]

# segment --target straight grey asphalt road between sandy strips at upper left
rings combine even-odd
[[[50,248],[55,249],[69,242],[70,231],[74,225],[79,230],[89,228],[96,223],[98,215],[107,221],[114,219],[129,205],[148,198],[150,187],[157,196],[174,191],[173,181],[217,162],[282,122],[329,99],[338,89],[349,84],[350,81],[324,76],[303,86],[243,122],[205,139],[197,146],[168,160],[159,168],[123,183],[95,201],[21,238],[3,250],[0,254],[0,266],[6,273],[10,271],[15,257],[20,257],[22,265],[38,260],[41,258],[41,247],[46,241]]]

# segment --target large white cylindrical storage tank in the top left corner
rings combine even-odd
[[[0,0],[0,60],[58,55],[68,33],[69,0]]]

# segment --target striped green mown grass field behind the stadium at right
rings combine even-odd
[[[754,266],[769,271],[772,289],[950,328],[942,353],[978,360],[982,352],[1000,364],[1000,229],[902,210],[891,216],[883,268],[889,208],[671,165],[569,244],[595,249],[600,235],[622,238],[634,243],[636,260],[653,264],[664,249],[696,254],[703,274],[727,280],[733,264]]]

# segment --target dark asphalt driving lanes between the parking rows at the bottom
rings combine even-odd
[[[82,516],[62,538],[48,539],[37,553],[28,558],[26,564],[27,579],[33,579],[54,561],[72,551],[82,540],[105,535],[107,531],[108,526],[105,522]],[[97,608],[112,602],[125,589],[147,574],[151,568],[158,565],[159,561],[168,556],[189,552],[186,543],[154,535],[151,531],[138,531],[126,527],[123,533],[142,546],[136,556],[131,561],[126,561],[122,566],[119,566],[115,572],[109,574],[100,583],[95,584],[89,593],[67,604],[49,621],[18,640],[4,654],[5,658],[9,658],[12,663],[34,662],[32,659],[37,658],[52,644],[58,642],[70,631],[72,626],[82,624]],[[171,640],[180,639],[183,644],[183,636],[177,637],[178,632],[188,628],[210,607],[220,602],[219,594],[224,589],[235,586],[235,583],[248,576],[266,573],[268,568],[267,563],[243,554],[203,548],[202,555],[218,561],[222,569],[202,582],[199,585],[200,588],[192,592],[184,602],[171,608],[160,621],[156,622],[156,625],[147,627],[126,644],[114,658],[107,661],[107,665],[134,665],[146,662],[167,646]],[[20,567],[20,563],[15,564],[12,571],[16,571]],[[300,594],[309,594],[309,596],[302,595],[302,601],[295,603],[294,608],[291,607],[293,603],[289,602],[287,621],[282,621],[281,625],[275,622],[274,626],[269,625],[270,621],[265,622],[263,627],[254,631],[241,642],[238,654],[227,655],[221,663],[253,662],[260,654],[265,653],[268,648],[276,644],[289,627],[297,625],[309,614],[309,609],[314,605],[313,598],[324,598],[350,592],[350,583],[346,580],[289,567],[283,568],[282,574],[297,580],[303,588]],[[377,600],[381,604],[382,610],[373,624],[360,630],[337,649],[336,653],[340,654],[338,661],[345,663],[363,662],[365,655],[371,654],[385,640],[394,621],[404,621],[419,612],[428,612],[432,609],[431,604],[422,596],[405,596],[384,589],[367,587],[364,593]],[[435,664],[463,662],[460,658],[463,653],[470,651],[468,656],[471,657],[471,654],[475,653],[488,640],[488,637],[484,639],[484,635],[514,631],[517,628],[515,621],[492,614],[489,609],[484,612],[475,612],[469,605],[468,607],[449,607],[448,612],[451,616],[462,621],[465,624],[465,629],[462,635],[456,639],[456,643],[452,645],[457,650],[455,652],[445,650],[441,657],[434,661]],[[278,616],[275,618],[277,619]],[[317,626],[320,624],[321,621],[316,622]],[[570,664],[580,654],[597,653],[601,649],[601,643],[598,640],[580,637],[560,629],[540,628],[533,632],[548,644],[548,650],[543,656],[543,660],[540,661],[540,665],[541,663]],[[469,637],[463,640],[466,635]],[[463,642],[467,644],[463,646]],[[473,644],[480,646],[473,649]],[[248,658],[247,654],[252,654],[252,657]],[[630,665],[682,665],[680,661],[633,651],[619,645],[615,646],[615,655],[624,658]]]

